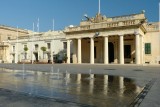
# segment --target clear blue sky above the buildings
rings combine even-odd
[[[146,11],[149,22],[159,20],[160,0],[101,0],[101,14],[107,17]],[[93,17],[98,12],[98,0],[0,0],[0,24],[32,30],[39,18],[40,31],[62,30],[79,25],[85,13]],[[35,28],[36,29],[36,28]]]

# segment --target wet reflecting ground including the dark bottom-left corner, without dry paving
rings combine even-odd
[[[124,107],[143,89],[134,79],[89,73],[60,73],[53,67],[50,72],[1,68],[0,88],[6,93],[0,96],[1,105]]]

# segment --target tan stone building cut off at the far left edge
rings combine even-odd
[[[19,34],[19,37],[30,33],[29,30],[0,25],[0,63],[6,63],[8,58],[7,55],[9,54],[7,51],[9,49],[9,45],[4,43],[3,41],[16,39],[17,32]]]

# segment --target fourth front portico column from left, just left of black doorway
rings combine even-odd
[[[104,64],[108,64],[108,36],[104,37]]]

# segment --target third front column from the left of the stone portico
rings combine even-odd
[[[94,38],[90,38],[90,63],[94,64]]]

